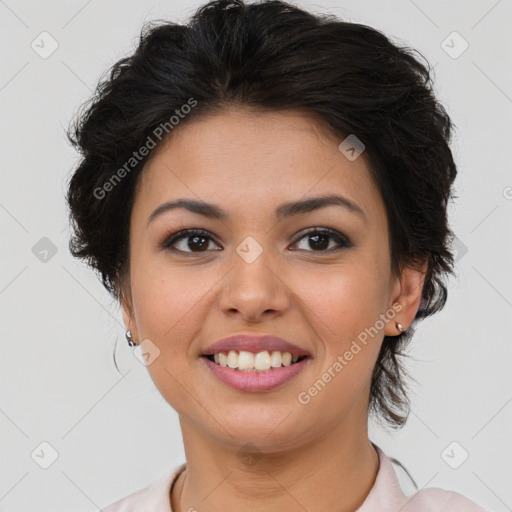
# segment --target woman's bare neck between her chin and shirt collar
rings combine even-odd
[[[379,469],[362,429],[338,425],[308,443],[276,451],[262,444],[242,452],[180,418],[187,466],[171,499],[174,512],[353,512]]]

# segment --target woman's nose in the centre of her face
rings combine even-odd
[[[232,268],[220,291],[222,312],[251,323],[282,315],[289,307],[290,291],[276,267],[269,249],[254,260],[233,251]]]

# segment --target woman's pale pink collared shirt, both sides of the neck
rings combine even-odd
[[[406,497],[391,460],[377,445],[374,446],[379,455],[379,471],[368,496],[356,512],[486,512],[461,494],[435,487]],[[185,464],[174,468],[147,487],[103,508],[103,512],[173,512],[170,490],[184,468]]]

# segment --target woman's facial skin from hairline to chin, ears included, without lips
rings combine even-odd
[[[413,271],[402,283],[391,275],[384,203],[364,153],[348,159],[341,142],[298,112],[232,108],[177,126],[146,163],[130,226],[133,307],[123,315],[134,340],[146,340],[148,371],[182,425],[269,452],[334,426],[366,428],[383,336],[412,321],[423,282]],[[283,204],[325,195],[360,211],[331,204],[276,216]],[[225,218],[175,208],[149,220],[178,199],[211,203]],[[206,238],[162,245],[192,228]],[[325,228],[341,241],[322,237]],[[277,388],[234,389],[202,353],[240,333],[279,336],[311,357]]]

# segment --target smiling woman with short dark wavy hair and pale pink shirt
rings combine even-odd
[[[368,414],[444,306],[451,121],[363,25],[268,1],[147,27],[70,139],[70,248],[119,300],[186,463],[106,512],[482,511],[405,497]]]

